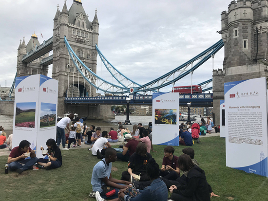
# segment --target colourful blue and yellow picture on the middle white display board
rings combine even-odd
[[[154,124],[177,124],[177,110],[154,109]]]

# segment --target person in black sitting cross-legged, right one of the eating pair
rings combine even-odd
[[[41,169],[55,169],[62,165],[62,157],[61,157],[61,151],[59,147],[57,146],[54,139],[48,139],[46,141],[47,151],[48,153],[42,154],[43,156],[48,156],[47,159],[39,158],[38,164],[36,166]],[[40,148],[41,150],[44,150],[43,147]]]

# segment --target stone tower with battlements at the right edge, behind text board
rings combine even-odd
[[[233,0],[221,14],[223,69],[213,71],[214,122],[219,124],[224,83],[268,77],[268,0]]]

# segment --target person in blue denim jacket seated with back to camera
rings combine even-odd
[[[168,189],[159,178],[159,165],[153,158],[148,161],[146,171],[152,181],[150,186],[144,188],[144,190],[135,189],[134,187],[121,189],[118,193],[119,199],[113,201],[166,201],[168,199]]]

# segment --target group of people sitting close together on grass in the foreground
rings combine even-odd
[[[179,157],[174,148],[164,148],[162,166],[147,151],[147,145],[138,143],[131,155],[127,171],[117,180],[112,177],[112,163],[118,158],[114,148],[108,147],[105,157],[93,168],[90,197],[96,201],[210,201],[213,193],[204,170],[194,159],[190,147]],[[169,196],[169,191],[172,193]]]

